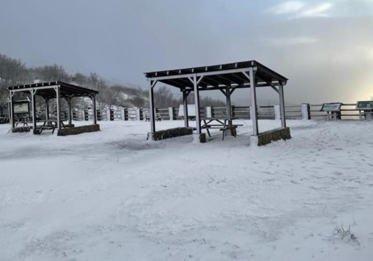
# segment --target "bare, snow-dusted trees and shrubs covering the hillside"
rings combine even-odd
[[[97,107],[99,109],[121,106],[125,108],[147,108],[149,106],[148,90],[141,87],[129,87],[121,84],[110,84],[95,72],[83,74],[80,72],[67,73],[61,65],[45,65],[27,67],[21,60],[0,54],[0,115],[7,115],[8,86],[40,82],[62,81],[82,87],[98,90]],[[15,99],[28,96],[17,93]],[[194,103],[194,95],[188,97],[189,103]],[[37,109],[43,110],[44,101],[37,99]],[[210,97],[200,98],[201,106],[225,106],[225,103]],[[75,98],[72,101],[74,108],[85,109],[90,107],[90,101],[84,98]],[[175,97],[167,86],[156,87],[154,90],[154,104],[156,108],[179,107],[182,104],[181,97]],[[66,104],[62,101],[62,107]],[[53,101],[51,104],[53,108]]]

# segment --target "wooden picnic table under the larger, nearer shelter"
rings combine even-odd
[[[211,137],[209,129],[219,129],[223,131],[222,140],[224,140],[225,132],[227,130],[231,131],[232,135],[236,137],[236,128],[242,126],[242,124],[232,124],[233,120],[236,120],[236,117],[213,117],[213,118],[203,118],[203,124],[201,128],[206,129],[207,134]]]

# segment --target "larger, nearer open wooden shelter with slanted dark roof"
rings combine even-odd
[[[250,88],[253,136],[257,136],[259,131],[256,88],[271,87],[279,95],[281,127],[286,127],[283,86],[286,85],[288,79],[257,61],[253,60],[213,66],[152,71],[145,73],[145,77],[147,77],[149,81],[150,122],[152,133],[156,131],[153,89],[158,82],[177,87],[183,93],[184,116],[186,116],[184,117],[185,127],[188,127],[187,98],[189,93],[192,91],[194,92],[197,124],[195,131],[197,133],[201,133],[200,91],[205,90],[220,90],[224,93],[226,96],[227,116],[231,117],[232,93],[236,89]]]

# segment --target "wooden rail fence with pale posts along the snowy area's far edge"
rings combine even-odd
[[[286,105],[286,119],[308,119],[308,120],[326,120],[327,112],[321,111],[322,104],[300,104]],[[232,106],[232,117],[239,119],[251,118],[251,106]],[[157,120],[178,120],[179,108],[156,108],[154,111]],[[44,116],[40,113],[42,117]],[[226,107],[208,106],[200,108],[201,117],[226,117]],[[257,116],[260,120],[280,119],[279,105],[257,106]],[[45,117],[45,116],[44,116]],[[342,104],[341,110],[336,114],[338,119],[372,119],[373,109],[361,110],[356,109],[356,104]],[[62,118],[67,120],[68,111],[62,111]],[[75,121],[88,121],[93,119],[92,109],[81,110],[73,109],[72,118]],[[120,121],[120,120],[148,120],[150,110],[148,108],[119,108],[119,109],[101,109],[97,110],[98,121]],[[9,123],[9,117],[0,116],[0,124]]]

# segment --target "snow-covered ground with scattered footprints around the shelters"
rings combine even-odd
[[[139,121],[0,125],[0,260],[372,260],[373,122],[289,120],[292,139],[263,147],[237,123],[205,144],[146,141]]]

